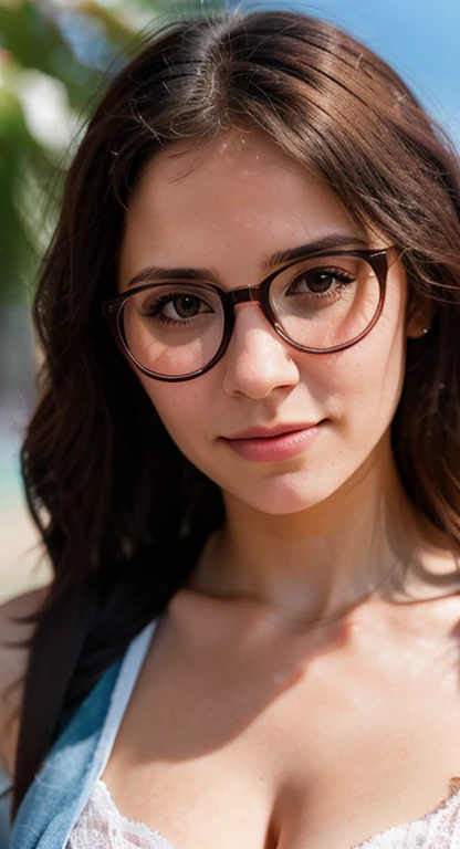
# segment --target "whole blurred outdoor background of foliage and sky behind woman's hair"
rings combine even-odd
[[[460,145],[458,0],[0,0],[0,601],[49,580],[19,448],[35,401],[30,305],[62,176],[137,32],[233,6],[301,9],[347,29],[395,66]]]

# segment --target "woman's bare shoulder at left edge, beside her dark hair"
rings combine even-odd
[[[0,759],[13,771],[22,682],[29,661],[27,643],[34,625],[21,621],[33,616],[43,604],[48,589],[41,587],[0,605]]]

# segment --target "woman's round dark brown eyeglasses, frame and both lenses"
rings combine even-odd
[[[388,248],[309,254],[257,286],[227,291],[207,281],[165,280],[102,305],[115,340],[156,380],[191,380],[223,357],[234,310],[255,302],[284,342],[309,354],[356,345],[385,301]]]

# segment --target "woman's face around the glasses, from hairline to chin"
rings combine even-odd
[[[207,269],[227,290],[257,285],[275,270],[268,264],[275,252],[332,234],[363,248],[333,192],[261,133],[231,133],[195,151],[177,143],[156,155],[130,198],[119,291],[147,266]],[[369,234],[369,248],[387,244]],[[179,449],[224,493],[265,513],[292,513],[366,465],[389,462],[385,437],[408,333],[404,269],[393,260],[384,312],[351,348],[296,350],[249,302],[237,306],[229,347],[207,374],[174,384],[136,370]],[[278,439],[241,437],[299,428]]]

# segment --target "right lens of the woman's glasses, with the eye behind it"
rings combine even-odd
[[[274,277],[270,303],[292,342],[318,350],[353,342],[375,318],[380,286],[358,256],[303,260]]]

